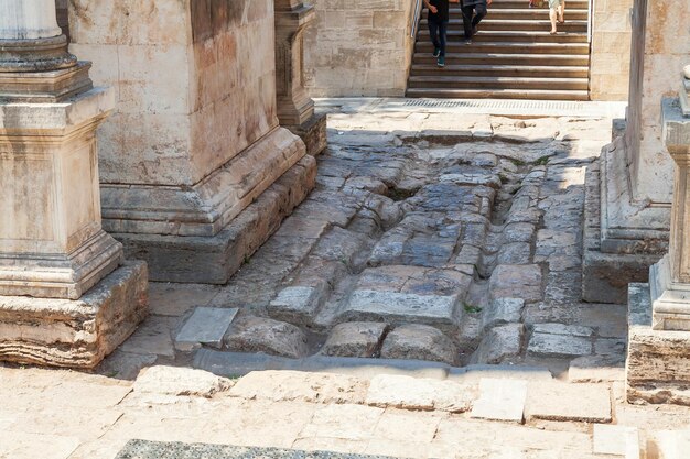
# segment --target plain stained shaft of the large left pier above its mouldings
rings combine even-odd
[[[272,0],[69,3],[72,51],[117,91],[103,183],[193,185],[278,125]]]

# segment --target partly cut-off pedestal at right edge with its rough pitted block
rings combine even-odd
[[[630,285],[627,394],[630,402],[690,405],[690,118],[662,102],[664,139],[677,164],[669,252]]]

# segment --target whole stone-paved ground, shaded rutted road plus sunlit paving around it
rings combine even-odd
[[[624,402],[626,306],[580,302],[584,171],[611,119],[359,109],[331,108],[316,189],[228,285],[151,284],[99,375],[0,368],[0,458],[111,459],[131,438],[681,457],[689,408]],[[328,373],[236,378],[279,365]]]

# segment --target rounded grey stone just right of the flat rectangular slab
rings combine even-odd
[[[306,336],[298,327],[256,316],[236,318],[225,338],[225,347],[236,352],[266,352],[293,359],[309,353]]]

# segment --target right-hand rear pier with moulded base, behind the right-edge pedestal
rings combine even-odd
[[[627,128],[603,149],[599,173],[589,173],[589,189],[597,195],[589,200],[600,205],[586,209],[584,300],[624,303],[627,283],[646,282],[649,265],[668,249],[673,165],[661,140],[658,100],[678,90],[690,53],[688,22],[687,9],[635,0]],[[669,26],[679,32],[665,33]]]

